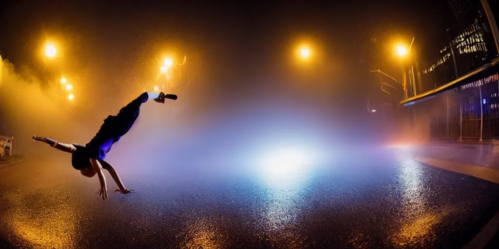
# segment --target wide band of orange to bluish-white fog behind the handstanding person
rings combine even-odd
[[[1,128],[14,136],[14,153],[28,158],[65,157],[68,167],[69,154],[33,142],[32,135],[85,145],[108,115],[116,115],[141,94],[116,95],[119,89],[87,94],[99,99],[97,108],[82,104],[93,99],[61,98],[56,88],[46,87],[46,82],[29,73],[15,72],[7,61],[2,62],[1,72]],[[106,161],[128,173],[140,167],[141,172],[189,174],[199,169],[252,167],[261,164],[269,151],[300,149],[320,158],[317,163],[327,163],[342,153],[358,153],[360,145],[422,142],[426,139],[422,134],[429,131],[421,120],[416,124],[409,116],[390,117],[390,112],[372,115],[358,99],[341,98],[355,89],[324,99],[321,89],[279,89],[283,85],[250,93],[181,92],[177,101],[149,101]]]

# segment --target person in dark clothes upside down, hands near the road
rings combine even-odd
[[[133,193],[133,189],[125,188],[125,185],[123,185],[123,182],[114,168],[104,161],[104,158],[111,149],[111,146],[130,130],[137,120],[137,117],[139,117],[140,106],[149,99],[154,99],[154,101],[163,104],[165,103],[165,99],[176,100],[177,96],[174,94],[165,95],[163,92],[159,94],[141,94],[137,99],[123,107],[118,115],[109,115],[107,119],[104,120],[104,124],[102,124],[97,134],[85,146],[74,143],[61,143],[57,140],[41,136],[33,136],[33,140],[45,142],[52,148],[71,153],[71,164],[73,165],[73,168],[79,170],[82,175],[93,177],[97,174],[100,183],[99,195],[102,196],[103,200],[107,199],[109,195],[107,192],[106,178],[104,177],[102,169],[106,169],[116,182],[116,185],[118,185],[119,189],[115,192],[120,192],[122,194]]]

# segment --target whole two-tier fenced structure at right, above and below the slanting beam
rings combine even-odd
[[[408,93],[414,96],[416,90],[419,95],[402,102],[403,117],[430,139],[499,138],[499,60],[494,29],[481,2],[468,3],[471,10],[467,18],[464,13],[461,16],[463,28],[440,50],[441,58],[423,67],[416,80],[409,74],[410,82],[417,84],[409,85]]]

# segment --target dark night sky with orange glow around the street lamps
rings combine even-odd
[[[153,61],[174,51],[197,63],[196,103],[206,112],[302,102],[354,121],[368,115],[365,97],[376,84],[369,70],[400,78],[394,40],[416,37],[418,52],[438,55],[456,23],[447,0],[21,0],[0,9],[2,58],[44,79],[33,54],[55,37],[64,46],[60,67],[85,82],[86,97],[97,97],[86,102],[92,110],[139,91],[157,73]],[[302,67],[292,56],[300,42],[317,55]]]

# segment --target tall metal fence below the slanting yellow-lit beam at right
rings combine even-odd
[[[413,124],[427,124],[433,139],[499,138],[499,65],[406,107],[405,114]]]

